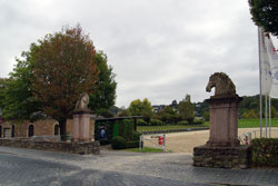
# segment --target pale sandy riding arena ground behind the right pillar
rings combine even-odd
[[[239,128],[238,136],[242,137],[242,134],[254,130],[256,130],[256,136],[259,137],[259,128]],[[255,133],[252,133],[252,138],[254,136]],[[278,137],[278,128],[272,128],[271,137]],[[209,130],[166,134],[166,150],[192,154],[193,147],[205,145],[208,138]],[[145,141],[145,145],[150,147],[158,147],[157,144],[158,139],[156,138]]]

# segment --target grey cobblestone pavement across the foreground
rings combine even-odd
[[[98,156],[0,147],[0,186],[277,186],[278,169],[193,167],[187,154]]]

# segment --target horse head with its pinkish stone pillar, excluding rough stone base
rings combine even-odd
[[[239,146],[238,140],[238,105],[242,98],[236,94],[236,86],[224,72],[210,76],[206,87],[215,96],[206,101],[210,111],[210,137],[207,146]]]

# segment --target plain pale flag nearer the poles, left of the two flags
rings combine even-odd
[[[259,52],[260,52],[260,75],[261,75],[261,95],[269,96],[272,78],[270,72],[270,63],[265,43],[265,33],[259,28]]]

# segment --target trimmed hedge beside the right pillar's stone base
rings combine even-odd
[[[252,139],[251,147],[255,166],[278,167],[278,138]]]

